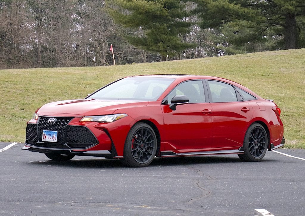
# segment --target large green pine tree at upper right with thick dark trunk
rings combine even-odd
[[[224,23],[241,22],[262,37],[267,30],[282,34],[284,49],[304,44],[304,0],[194,0],[193,11],[202,18],[201,27],[213,28]],[[253,32],[253,31],[252,31]],[[252,35],[254,36],[254,34]]]

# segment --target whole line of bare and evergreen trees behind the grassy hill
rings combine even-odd
[[[303,0],[0,0],[0,68],[81,67],[305,47]]]

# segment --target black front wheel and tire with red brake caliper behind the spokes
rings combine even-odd
[[[148,124],[136,123],[127,134],[121,162],[129,167],[145,167],[155,158],[156,151],[155,131]]]

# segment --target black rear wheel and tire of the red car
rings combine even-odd
[[[265,128],[258,123],[253,123],[248,128],[244,138],[244,154],[239,154],[242,161],[257,162],[261,161],[268,146],[268,137]]]

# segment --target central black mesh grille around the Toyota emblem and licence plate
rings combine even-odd
[[[38,118],[38,134],[39,134],[39,141],[42,140],[42,131],[58,131],[57,134],[57,143],[65,143],[65,129],[66,125],[73,119],[73,118],[61,118],[56,117],[57,121],[53,125],[48,124],[48,119],[50,117],[43,117],[40,116]]]

